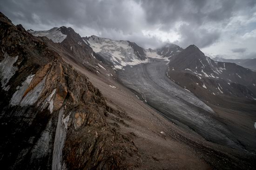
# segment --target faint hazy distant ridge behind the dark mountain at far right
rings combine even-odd
[[[221,57],[214,57],[212,59],[217,62],[236,63],[237,65],[243,66],[245,68],[256,70],[256,58],[225,59]]]

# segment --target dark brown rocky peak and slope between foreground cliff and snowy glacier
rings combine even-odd
[[[53,29],[57,29],[57,31],[51,31]],[[85,38],[81,38],[81,36],[76,33],[72,28],[67,28],[65,26],[61,26],[60,28],[53,28],[49,31],[29,31],[33,35],[37,36],[37,38],[43,42],[45,42],[52,50],[61,55],[61,57],[66,62],[72,62],[88,69],[94,74],[104,74],[107,76],[115,76],[115,71],[109,69],[108,66],[104,65],[104,61],[99,61],[101,57],[96,54],[93,49],[87,44]],[[44,34],[41,32],[49,32],[50,37],[44,37]],[[57,32],[57,33],[56,33]],[[61,32],[61,33],[59,33]],[[54,42],[54,37],[58,36],[58,34],[63,34],[66,38],[61,42]],[[42,37],[40,37],[42,36]],[[108,64],[109,65],[109,64]]]

